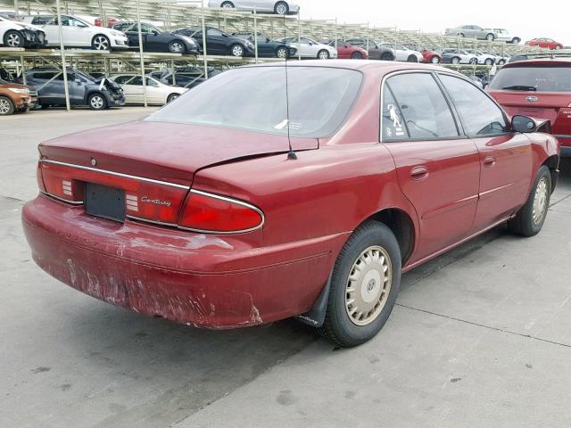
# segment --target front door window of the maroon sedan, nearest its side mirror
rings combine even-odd
[[[503,111],[481,89],[463,78],[440,75],[440,79],[452,98],[468,136],[491,136],[508,132]]]

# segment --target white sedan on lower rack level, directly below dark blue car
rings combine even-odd
[[[143,78],[137,74],[117,74],[112,80],[123,88],[126,104],[145,103],[143,92]],[[186,87],[169,86],[156,78],[146,77],[146,102],[148,104],[164,105],[183,95]]]

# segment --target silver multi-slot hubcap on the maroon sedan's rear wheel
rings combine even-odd
[[[360,253],[345,287],[345,310],[354,325],[372,323],[385,308],[393,269],[384,248],[374,245]]]

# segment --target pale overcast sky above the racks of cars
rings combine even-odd
[[[550,0],[542,9],[536,0],[494,2],[444,0],[293,0],[301,6],[302,19],[370,23],[377,27],[443,32],[459,25],[508,29],[523,41],[550,37],[571,45],[571,1]]]

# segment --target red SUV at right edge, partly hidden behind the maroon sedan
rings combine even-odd
[[[561,143],[561,156],[571,157],[571,61],[537,58],[509,62],[498,71],[488,92],[509,115],[548,119]]]

